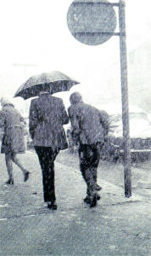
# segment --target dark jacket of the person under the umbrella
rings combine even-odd
[[[63,127],[68,123],[62,99],[46,93],[31,101],[29,128],[34,146],[68,148]]]

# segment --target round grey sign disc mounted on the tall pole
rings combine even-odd
[[[67,23],[82,44],[103,44],[115,32],[115,9],[107,0],[75,0],[68,9]]]

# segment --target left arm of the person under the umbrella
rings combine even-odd
[[[34,135],[35,135],[36,126],[37,126],[37,110],[35,108],[34,102],[31,101],[30,116],[29,116],[29,131],[32,139],[34,138]]]

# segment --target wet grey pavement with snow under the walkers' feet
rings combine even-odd
[[[36,154],[21,154],[20,160],[32,172],[31,177],[24,183],[15,167],[14,186],[8,186],[4,184],[8,177],[4,157],[0,159],[0,255],[149,255],[148,197],[132,193],[127,199],[120,186],[98,178],[103,187],[101,200],[90,208],[83,202],[86,184],[77,157],[69,159],[64,153],[55,162],[58,210],[52,211],[43,204],[42,172]],[[99,177],[106,173],[105,165]]]

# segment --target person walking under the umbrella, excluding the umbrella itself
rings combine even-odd
[[[38,98],[31,101],[30,133],[36,154],[42,168],[44,201],[48,208],[56,210],[54,187],[54,160],[59,150],[68,148],[63,125],[69,117],[62,99],[40,92]]]

